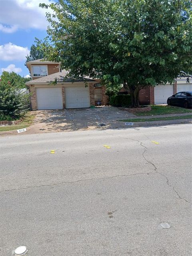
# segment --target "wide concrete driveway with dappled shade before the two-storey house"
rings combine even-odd
[[[118,128],[116,120],[135,115],[116,107],[76,108],[36,111],[34,124],[27,133]],[[104,126],[100,126],[104,124]]]

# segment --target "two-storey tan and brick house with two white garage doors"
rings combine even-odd
[[[31,96],[32,110],[49,110],[63,108],[88,108],[108,103],[105,86],[98,79],[89,77],[65,78],[67,72],[60,70],[59,63],[43,59],[26,62],[32,80],[26,82]],[[56,85],[51,84],[57,81]]]

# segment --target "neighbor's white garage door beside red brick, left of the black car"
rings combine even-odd
[[[167,98],[173,95],[173,85],[158,85],[154,88],[155,104],[166,104]]]

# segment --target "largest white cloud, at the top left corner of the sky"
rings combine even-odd
[[[48,22],[46,12],[52,13],[50,9],[39,7],[41,2],[53,3],[54,0],[0,0],[0,30],[6,33],[13,33],[18,28],[36,28],[46,30]],[[11,28],[8,28],[11,26]],[[7,32],[9,31],[9,32]]]

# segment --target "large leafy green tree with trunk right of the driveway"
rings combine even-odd
[[[192,73],[190,0],[58,0],[46,14],[46,58],[73,76],[129,88],[132,107],[146,86]]]

